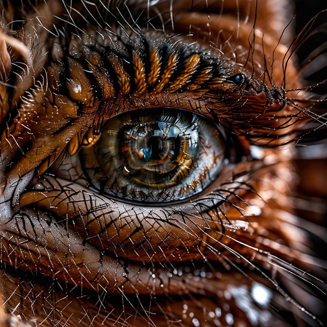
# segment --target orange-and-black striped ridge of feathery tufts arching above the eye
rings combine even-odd
[[[118,44],[121,46],[121,43]],[[247,88],[254,89],[244,74],[236,75],[240,77],[238,79],[233,77],[235,68],[232,62],[222,58],[220,54],[212,55],[209,49],[203,49],[203,46],[199,49],[192,43],[178,44],[175,40],[172,42],[165,39],[154,43],[145,37],[139,38],[134,45],[126,44],[124,50],[116,50],[118,44],[112,44],[110,47],[101,44],[86,47],[80,44],[80,50],[75,46],[74,55],[69,52],[63,54],[59,72],[53,74],[53,68],[49,68],[50,75],[57,75],[62,81],[55,92],[72,100],[76,108],[79,108],[76,110],[77,116],[83,113],[83,107],[90,109],[97,97],[101,101],[114,103],[115,98],[119,96],[134,100],[135,96],[145,93],[161,97],[164,92],[169,98],[169,94],[183,91],[191,92],[192,98],[201,98],[204,106],[210,105],[209,110],[201,108],[200,111],[212,118],[208,111],[219,112],[214,109],[215,101],[219,102],[225,92],[229,94],[230,91],[236,90],[234,98],[239,106],[241,102],[237,90],[245,82]],[[254,91],[258,93],[261,90]],[[215,100],[211,101],[212,98]],[[125,104],[126,102],[128,101],[125,99]],[[183,107],[178,102],[176,106]],[[197,111],[195,107],[197,106],[189,105],[183,108]],[[122,108],[131,110],[137,109],[138,106],[133,106],[131,101],[130,105],[120,106],[120,111],[115,109],[107,118],[124,112],[121,111]],[[241,116],[244,117],[245,113],[246,110],[243,110]],[[224,115],[221,118],[224,119]]]

